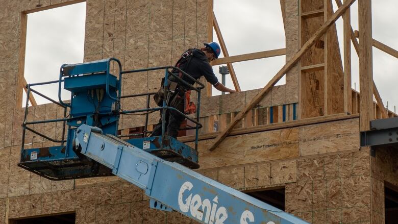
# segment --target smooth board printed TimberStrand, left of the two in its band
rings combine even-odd
[[[198,145],[201,168],[246,164],[299,156],[299,130],[284,129],[227,137],[214,152],[208,150],[212,140]]]

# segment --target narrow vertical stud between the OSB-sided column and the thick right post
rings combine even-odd
[[[340,1],[340,0],[338,0]],[[344,0],[346,2],[346,0]],[[343,45],[344,45],[344,112],[353,113],[351,92],[351,12],[347,9],[343,14]]]

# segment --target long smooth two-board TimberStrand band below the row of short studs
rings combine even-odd
[[[358,119],[230,136],[213,152],[198,144],[201,168],[215,168],[359,149]],[[193,143],[189,143],[193,144]],[[299,154],[300,153],[300,154]],[[361,162],[362,160],[358,160]],[[362,161],[363,162],[363,161]],[[364,161],[366,162],[366,161]],[[358,165],[362,169],[362,165]],[[363,171],[358,171],[363,174]]]

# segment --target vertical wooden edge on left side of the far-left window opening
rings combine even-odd
[[[26,49],[26,29],[28,23],[28,15],[24,12],[20,14],[20,39],[19,39],[19,52],[18,52],[18,75],[17,75],[17,87],[16,88],[16,108],[22,107],[22,95],[23,90],[19,88],[23,85],[23,73],[25,69],[25,49]]]

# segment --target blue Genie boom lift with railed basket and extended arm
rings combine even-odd
[[[118,76],[110,73],[112,61],[118,65]],[[186,119],[195,123],[194,127],[189,128],[196,130],[195,148],[165,135],[164,125],[162,136],[147,137],[150,133],[147,131],[148,113],[175,110],[167,106],[165,102],[167,97],[162,107],[150,108],[150,96],[154,93],[121,95],[122,74],[163,69],[165,85],[169,76],[173,76],[190,90],[197,92],[196,119],[181,113]],[[181,79],[169,71],[170,69],[182,72],[186,79],[194,81],[197,87],[190,85],[184,81],[186,79]],[[31,88],[51,83],[59,85],[59,102]],[[63,88],[71,92],[70,103],[65,103],[61,99],[62,83]],[[31,131],[59,145],[25,150],[22,144],[18,165],[50,180],[116,175],[145,190],[145,194],[151,198],[151,208],[163,211],[175,210],[201,223],[307,223],[192,170],[199,167],[197,136],[198,129],[202,127],[198,117],[203,88],[204,85],[189,74],[172,66],[122,71],[120,62],[114,58],[81,64],[64,64],[60,69],[59,80],[27,86],[26,111],[22,124],[22,141],[26,131]],[[31,92],[63,107],[64,117],[27,121]],[[122,98],[138,96],[146,96],[146,108],[121,110]],[[139,138],[121,140],[118,137],[127,136],[117,135],[119,116],[134,113],[146,115],[145,129],[142,133],[136,134],[139,136],[135,137]],[[165,120],[164,115],[162,119]],[[67,126],[66,139],[65,133],[62,139],[52,139],[29,127],[47,122],[62,122],[63,130]]]

